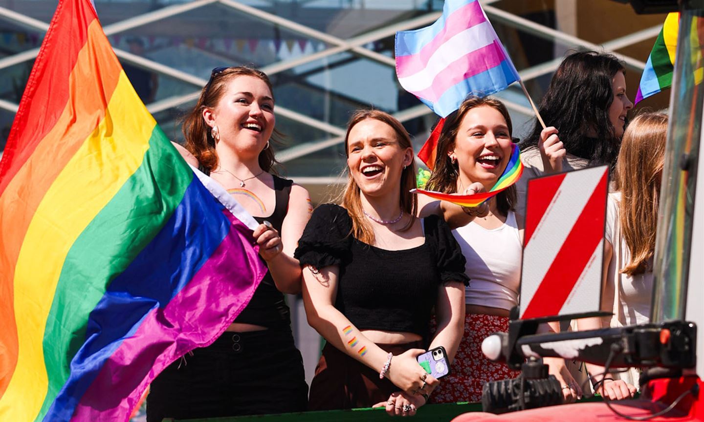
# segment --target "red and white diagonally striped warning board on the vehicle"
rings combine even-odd
[[[528,182],[520,318],[599,310],[608,166]]]

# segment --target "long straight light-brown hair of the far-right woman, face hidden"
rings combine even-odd
[[[655,252],[660,181],[665,162],[667,115],[661,112],[636,116],[623,134],[616,162],[615,188],[621,192],[619,220],[631,260],[623,274],[642,274]]]

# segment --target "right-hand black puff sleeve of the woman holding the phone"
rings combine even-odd
[[[459,281],[469,286],[470,278],[465,274],[467,261],[445,220],[437,215],[427,217],[425,232],[436,253],[440,280],[443,283]]]

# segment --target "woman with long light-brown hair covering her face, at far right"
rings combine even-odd
[[[629,326],[650,319],[653,254],[658,228],[660,181],[665,160],[667,115],[643,113],[623,136],[616,163],[615,192],[609,194],[604,244],[602,310],[613,312],[606,321],[578,321],[579,329]],[[587,364],[596,391],[610,399],[631,397],[639,372],[603,374],[603,367]]]

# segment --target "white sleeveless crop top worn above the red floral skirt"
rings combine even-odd
[[[465,289],[465,303],[500,309],[518,305],[522,245],[515,213],[509,211],[505,224],[497,229],[471,222],[452,234],[467,260],[470,286]]]

